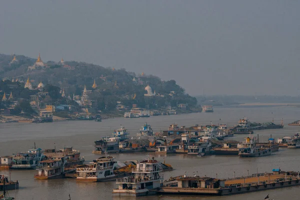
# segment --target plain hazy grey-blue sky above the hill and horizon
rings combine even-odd
[[[299,0],[1,0],[0,53],[174,79],[190,94],[300,94]]]

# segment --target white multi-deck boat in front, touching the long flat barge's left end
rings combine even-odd
[[[163,184],[163,176],[159,175],[162,168],[159,161],[152,159],[143,160],[136,163],[132,168],[133,175],[116,179],[117,188],[113,189],[113,196],[145,196],[155,194]]]

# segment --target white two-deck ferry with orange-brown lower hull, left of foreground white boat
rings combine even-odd
[[[76,181],[100,182],[115,180],[117,177],[125,176],[125,173],[115,174],[114,169],[117,162],[114,157],[105,156],[99,157],[89,164],[83,164],[76,167]],[[129,173],[128,173],[129,174]]]

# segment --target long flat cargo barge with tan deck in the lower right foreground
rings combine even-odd
[[[273,173],[257,173],[229,179],[184,175],[177,177],[176,181],[177,183],[165,183],[165,186],[156,190],[157,193],[228,195],[300,185],[298,172],[281,172],[280,169],[273,169]]]

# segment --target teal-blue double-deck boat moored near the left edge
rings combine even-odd
[[[12,154],[11,169],[35,169],[44,157],[41,148],[30,148],[27,152]]]

